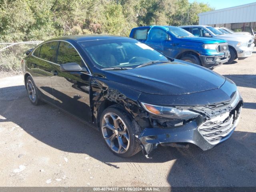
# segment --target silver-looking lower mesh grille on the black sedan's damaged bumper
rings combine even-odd
[[[224,120],[221,118],[222,116],[212,118],[198,127],[199,133],[210,144],[219,143],[225,136],[230,134],[234,128],[234,115],[229,116],[228,114],[228,117]]]

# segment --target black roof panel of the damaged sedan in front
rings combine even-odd
[[[52,40],[75,40],[77,42],[82,41],[91,41],[91,40],[104,40],[104,39],[122,39],[127,37],[121,37],[121,36],[112,36],[112,35],[70,35],[70,36],[64,36],[64,37],[58,37],[49,39],[47,41]]]

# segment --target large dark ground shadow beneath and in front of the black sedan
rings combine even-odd
[[[48,104],[33,106],[24,86],[0,88],[0,115],[5,118],[0,122],[14,122],[48,146],[88,154],[114,168],[119,168],[118,162],[175,160],[163,178],[171,186],[255,185],[256,133],[253,132],[235,131],[230,139],[208,151],[193,145],[189,148],[158,146],[149,159],[141,152],[131,158],[120,158],[108,150],[99,131]]]

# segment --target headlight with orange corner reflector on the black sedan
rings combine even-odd
[[[143,102],[141,104],[147,112],[164,118],[189,120],[200,115],[182,107],[157,106]]]

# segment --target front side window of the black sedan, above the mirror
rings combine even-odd
[[[58,50],[57,63],[61,65],[73,62],[81,65],[82,59],[80,55],[71,44],[61,41]]]

